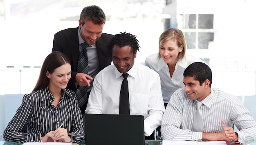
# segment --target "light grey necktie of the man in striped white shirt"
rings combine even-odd
[[[203,125],[203,118],[202,118],[202,102],[197,101],[195,102],[196,110],[195,115],[193,119],[193,131],[194,132],[203,132],[204,131],[204,125]]]

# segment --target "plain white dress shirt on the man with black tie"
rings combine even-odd
[[[164,102],[159,75],[141,64],[134,64],[129,74],[130,115],[144,116],[145,135],[149,136],[161,125]],[[109,65],[97,74],[85,113],[119,114],[119,95],[122,74]]]

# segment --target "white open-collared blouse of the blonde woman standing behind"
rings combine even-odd
[[[182,61],[177,61],[173,76],[171,78],[168,65],[164,62],[162,57],[159,59],[158,54],[152,54],[146,58],[145,65],[150,69],[155,70],[160,76],[164,103],[169,102],[173,92],[181,87],[184,87],[183,72],[186,67],[194,62],[205,63],[200,58],[186,54],[186,57],[183,58]],[[213,70],[211,71],[213,73],[213,78],[215,78],[215,72]]]

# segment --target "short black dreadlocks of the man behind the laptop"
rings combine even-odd
[[[132,48],[133,54],[136,50],[139,51],[139,41],[136,39],[135,35],[126,32],[120,32],[119,34],[112,37],[108,43],[108,50],[112,52],[114,45],[118,45],[120,48],[124,46],[130,46]]]

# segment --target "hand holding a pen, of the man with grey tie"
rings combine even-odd
[[[238,135],[234,131],[232,127],[227,127],[225,125],[225,122],[223,120],[220,121],[223,127],[223,132],[227,138],[228,142],[237,142],[238,141]]]

